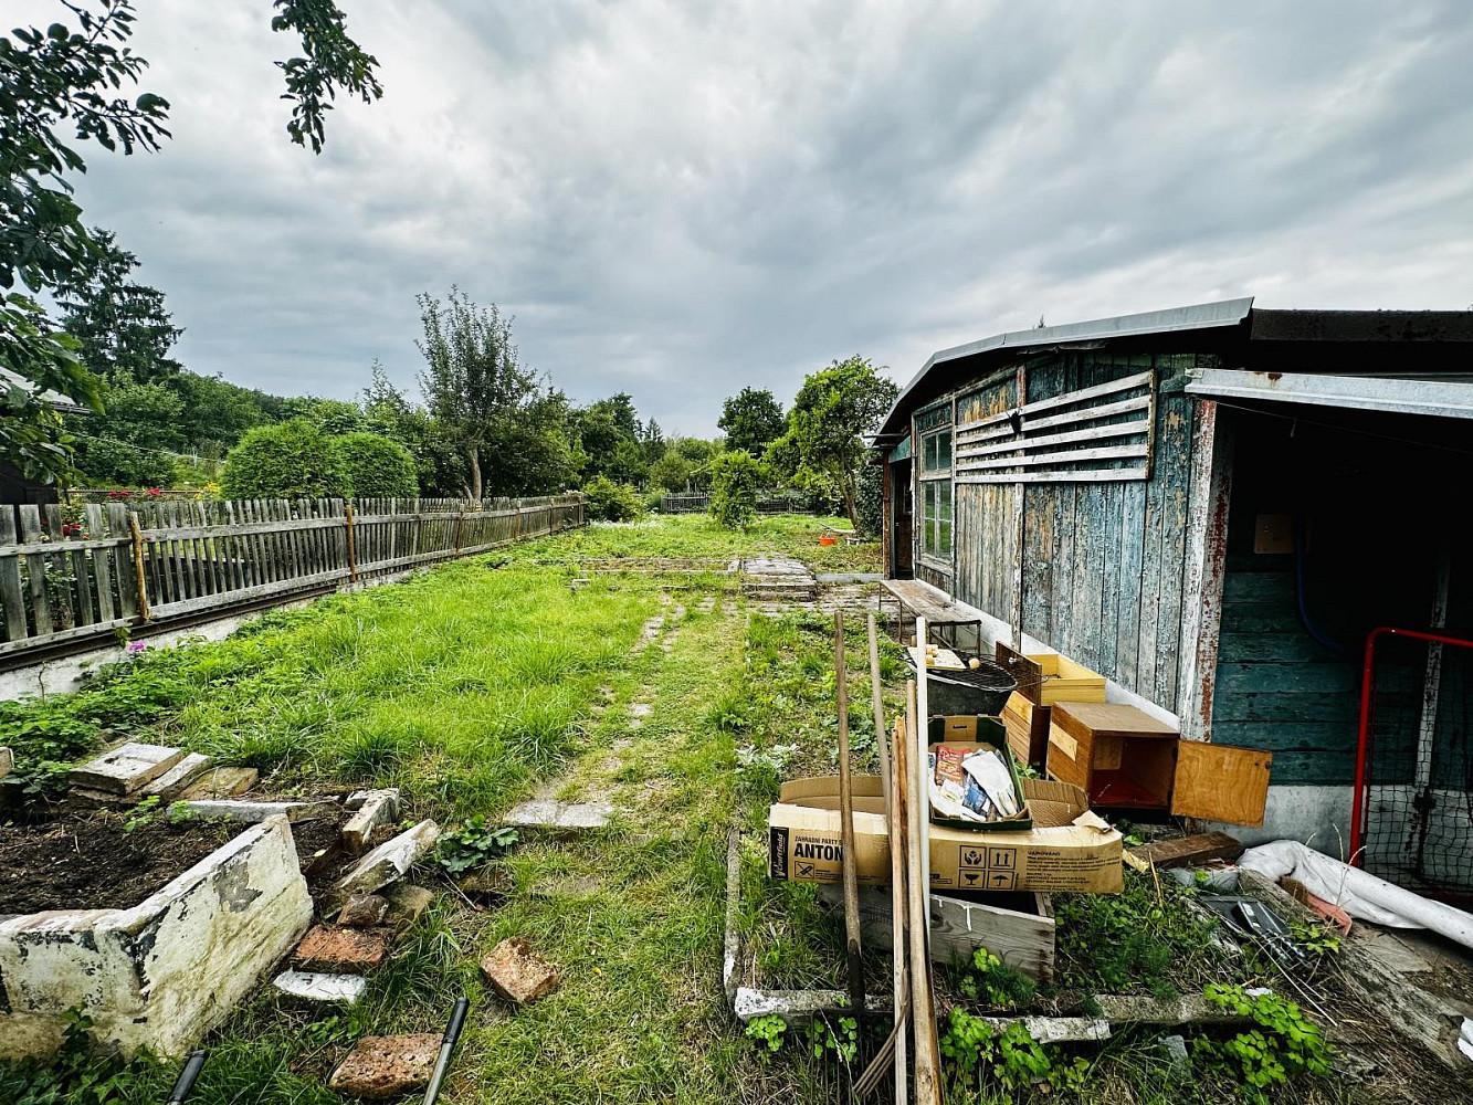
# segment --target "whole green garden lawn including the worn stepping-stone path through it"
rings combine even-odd
[[[819,547],[818,533],[803,517],[764,519],[736,535],[682,516],[498,550],[268,616],[219,644],[144,653],[77,695],[0,706],[0,744],[16,747],[38,784],[55,775],[34,771],[38,757],[60,765],[106,731],[255,765],[277,793],[398,785],[415,818],[446,827],[495,822],[533,793],[619,809],[605,831],[523,840],[501,860],[513,890],[496,908],[476,911],[426,872],[445,893],[373,975],[365,1003],[314,1020],[258,992],[209,1040],[202,1105],[336,1105],[324,1083],[358,1036],[439,1031],[461,992],[473,1015],[442,1096],[449,1105],[831,1102],[843,1059],[826,1039],[800,1036],[770,1053],[732,1021],[720,984],[732,825],[747,834],[739,922],[753,967],[790,986],[840,977],[838,922],[810,887],[766,880],[760,835],[782,778],[834,769],[831,620],[750,611],[717,576],[692,585],[594,575],[570,585],[579,564],[620,555],[782,552],[823,570],[872,570],[873,545]],[[654,617],[658,631],[636,648]],[[848,629],[851,731],[860,766],[872,769],[862,619]],[[885,644],[890,716],[907,672],[900,656]],[[1200,949],[1178,897],[1137,883],[1118,900],[1061,902],[1061,916],[1090,934],[1061,937],[1061,990],[1149,972],[1161,956],[1173,986],[1256,977],[1256,964],[1224,968]],[[516,1014],[489,997],[476,969],[508,936],[563,969],[552,994]],[[887,956],[872,956],[869,969],[873,989],[888,990]],[[941,972],[949,1005],[966,1005],[965,975]],[[1134,981],[1155,989],[1155,980]],[[1221,1061],[1177,1078],[1146,1036],[1050,1049],[1043,1061],[1053,1081],[1037,1076],[1012,1089],[990,1064],[953,1064],[949,1101],[1226,1104],[1239,1095]],[[147,1061],[0,1068],[0,1101],[153,1105],[171,1077]],[[1336,1083],[1301,1083],[1273,1099],[1336,1095]]]

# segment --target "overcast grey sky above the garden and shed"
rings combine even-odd
[[[704,435],[742,385],[1040,315],[1473,304],[1466,0],[339,3],[384,97],[320,158],[267,0],[138,4],[175,137],[78,192],[196,371],[412,386],[455,283],[576,401]]]

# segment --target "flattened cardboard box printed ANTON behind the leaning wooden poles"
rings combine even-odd
[[[931,827],[931,888],[1118,894],[1121,834],[1066,782],[1024,779],[1034,828],[1027,832]],[[843,846],[838,776],[782,785],[767,815],[767,874],[792,883],[838,883]],[[860,885],[890,881],[890,837],[878,775],[854,776],[854,847]]]

